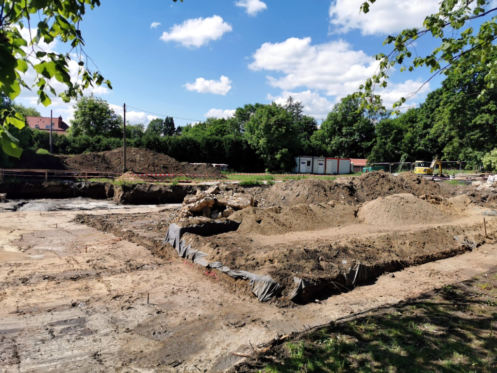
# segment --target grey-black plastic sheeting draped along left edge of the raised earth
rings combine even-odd
[[[236,280],[248,280],[250,291],[261,302],[268,301],[273,296],[281,294],[281,286],[279,282],[273,280],[270,276],[260,276],[247,271],[234,271],[223,266],[221,262],[209,262],[205,254],[201,251],[193,250],[191,245],[186,245],[181,239],[183,233],[193,233],[199,236],[212,236],[214,234],[237,230],[240,222],[233,220],[214,221],[201,225],[190,225],[187,227],[179,227],[176,224],[169,225],[164,244],[169,243],[178,253],[181,258],[191,260],[193,263],[199,264],[209,269],[216,269]]]

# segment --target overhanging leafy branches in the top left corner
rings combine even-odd
[[[48,106],[49,94],[59,94],[64,101],[83,95],[83,90],[105,84],[112,88],[98,71],[88,69],[88,57],[83,51],[84,41],[79,22],[87,7],[99,6],[99,0],[2,0],[0,3],[0,95],[15,99],[22,88],[36,90],[38,103]],[[36,23],[35,23],[36,22]],[[41,44],[54,40],[67,43],[65,54],[45,51]],[[75,58],[79,66],[77,77],[71,76],[69,64]],[[27,82],[25,73],[36,73]],[[62,83],[63,92],[54,85]],[[22,128],[22,114],[13,108],[0,110],[0,142],[5,153],[19,157],[19,142],[8,131],[10,125]]]

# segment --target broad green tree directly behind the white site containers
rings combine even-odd
[[[374,117],[361,109],[358,97],[349,94],[334,105],[311,142],[322,156],[366,158],[373,145]]]

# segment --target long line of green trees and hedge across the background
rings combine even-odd
[[[302,114],[302,103],[289,97],[282,105],[246,104],[231,118],[208,118],[183,127],[175,127],[170,117],[153,119],[147,127],[127,124],[127,146],[148,148],[178,161],[226,163],[240,172],[288,171],[297,155],[370,162],[437,156],[497,171],[497,89],[481,94],[485,75],[450,70],[423,103],[396,115],[382,108],[381,101],[376,110],[367,110],[352,94],[334,105],[318,126],[315,118]],[[15,135],[23,149],[49,148],[47,131],[24,128]],[[76,103],[69,135],[54,135],[53,152],[111,150],[123,146],[122,138],[122,118],[106,101],[91,95]],[[6,156],[1,162],[2,167],[14,164]]]

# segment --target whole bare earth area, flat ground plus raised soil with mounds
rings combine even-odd
[[[497,260],[493,188],[371,172],[214,189],[198,198],[250,203],[1,213],[0,371],[233,371],[261,343]],[[214,221],[231,228],[196,230]],[[201,260],[165,242],[172,226]],[[246,274],[276,290],[259,301]]]

